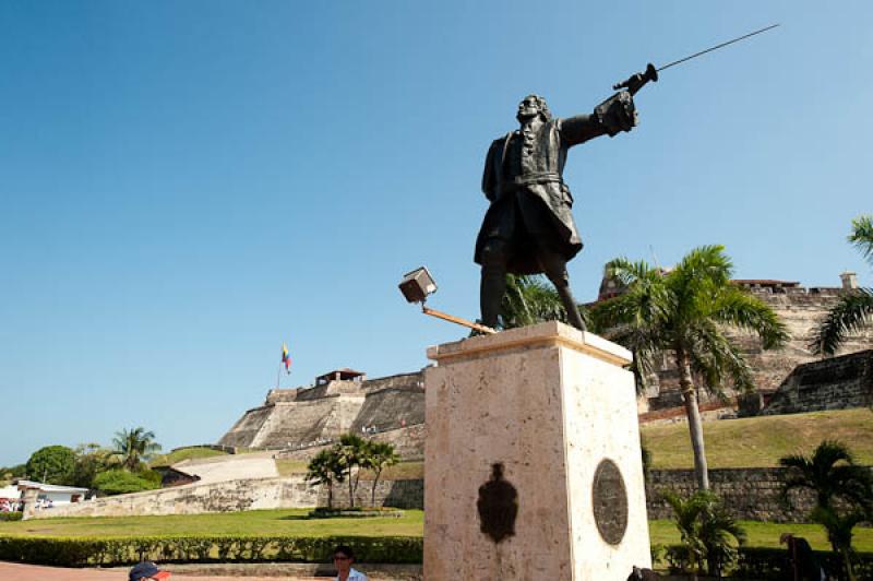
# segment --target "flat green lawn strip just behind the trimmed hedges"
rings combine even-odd
[[[0,522],[0,536],[174,536],[187,534],[289,536],[421,536],[423,512],[406,510],[404,517],[373,519],[308,519],[308,509],[252,510],[220,514],[124,517],[99,519],[39,519]],[[815,524],[775,524],[742,521],[748,545],[778,547],[779,535],[805,537],[813,548],[829,550],[824,530]],[[649,522],[653,545],[679,543],[679,532],[668,520]],[[854,547],[873,553],[873,529],[856,529]]]

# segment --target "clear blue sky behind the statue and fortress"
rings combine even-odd
[[[873,3],[0,3],[0,464],[145,426],[212,442],[276,382],[419,369],[475,318],[481,166],[530,92],[613,82],[768,24],[572,151],[595,297],[617,256],[723,244],[739,277],[871,284]]]

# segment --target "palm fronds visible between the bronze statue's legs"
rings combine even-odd
[[[501,328],[515,329],[542,321],[567,322],[566,310],[554,287],[542,275],[506,275],[500,304]]]

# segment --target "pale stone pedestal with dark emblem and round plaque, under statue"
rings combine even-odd
[[[626,349],[548,322],[428,357],[428,581],[624,581],[650,567]]]

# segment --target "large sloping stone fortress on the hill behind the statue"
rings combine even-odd
[[[804,287],[798,282],[738,280],[767,303],[788,327],[785,348],[763,352],[760,342],[734,333],[753,369],[758,393],[739,398],[741,415],[796,413],[873,404],[873,330],[852,336],[839,356],[821,359],[809,349],[818,321],[844,292],[858,287],[852,273],[841,275],[840,287]],[[603,280],[598,300],[621,293]],[[704,407],[736,407],[736,394],[726,387],[729,403],[709,401]],[[705,395],[705,394],[702,394]],[[681,406],[675,368],[665,358],[647,378],[637,405],[641,420]],[[684,414],[673,410],[678,417]],[[729,413],[729,411],[728,411]],[[705,414],[705,417],[706,414]],[[218,444],[229,448],[280,450],[280,458],[307,459],[342,434],[376,434],[391,441],[406,459],[423,453],[424,389],[422,371],[368,379],[351,369],[331,371],[312,387],[271,390],[263,405],[247,411]]]

